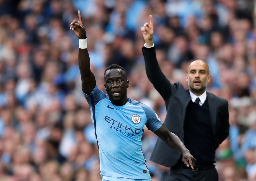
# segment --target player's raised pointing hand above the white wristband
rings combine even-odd
[[[82,22],[81,12],[78,10],[78,21],[74,20],[70,23],[70,30],[73,30],[79,39],[86,38],[86,31]]]

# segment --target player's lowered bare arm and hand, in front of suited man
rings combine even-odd
[[[165,124],[163,124],[158,130],[154,132],[159,138],[165,141],[165,143],[172,149],[182,153],[182,161],[187,167],[194,169],[193,165],[196,163],[196,159],[190,154],[190,151],[186,148],[180,138],[174,133],[170,132]]]

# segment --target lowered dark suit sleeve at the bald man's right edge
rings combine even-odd
[[[228,101],[225,100],[223,106],[224,112],[221,113],[220,128],[219,128],[219,144],[221,144],[229,135],[229,114],[228,114]]]

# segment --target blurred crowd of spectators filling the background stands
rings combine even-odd
[[[140,27],[154,20],[164,74],[188,88],[191,60],[210,66],[207,91],[229,102],[230,135],[216,150],[220,181],[256,180],[255,0],[0,0],[0,181],[100,181],[90,108],[69,30],[80,10],[91,69],[105,91],[112,63],[130,80],[128,97],[163,99],[148,81]],[[149,161],[156,136],[145,127],[143,153],[153,181],[169,168]]]

